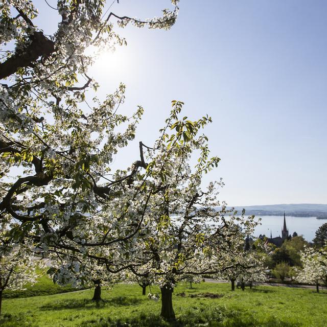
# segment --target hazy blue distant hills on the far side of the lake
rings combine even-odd
[[[268,204],[235,207],[238,212],[241,212],[243,208],[246,215],[283,216],[285,211],[286,216],[327,217],[327,204]]]

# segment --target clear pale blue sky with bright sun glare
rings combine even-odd
[[[52,32],[55,12],[35,3],[39,26]],[[169,0],[120,0],[111,10],[146,18],[167,7]],[[119,31],[128,45],[91,69],[103,96],[127,85],[122,112],[146,110],[113,168],[136,160],[138,141],[151,145],[171,100],[181,100],[190,119],[213,118],[206,133],[221,163],[205,182],[223,178],[221,200],[327,203],[327,2],[181,0],[179,7],[168,32]]]

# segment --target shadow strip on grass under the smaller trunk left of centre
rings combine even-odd
[[[142,299],[138,299],[136,297],[125,297],[118,296],[113,297],[106,301],[95,302],[91,299],[63,299],[58,301],[53,301],[46,303],[45,305],[39,307],[40,310],[64,310],[64,309],[94,309],[94,308],[102,308],[106,305],[108,306],[135,306]]]

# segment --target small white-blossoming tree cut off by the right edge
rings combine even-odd
[[[296,281],[316,285],[319,292],[319,285],[327,286],[327,249],[306,248],[301,252],[303,269],[297,269]]]

